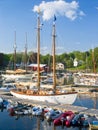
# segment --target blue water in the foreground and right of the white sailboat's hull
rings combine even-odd
[[[98,109],[98,98],[81,95],[73,105]],[[83,127],[54,126],[41,117],[35,116],[12,116],[6,109],[0,110],[0,130],[88,130]]]

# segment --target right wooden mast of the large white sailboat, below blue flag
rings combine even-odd
[[[55,70],[56,70],[56,67],[55,67],[55,37],[56,37],[56,34],[55,34],[55,21],[53,22],[53,32],[52,32],[52,37],[53,37],[53,89],[54,89],[54,92],[56,90],[56,74],[55,74]]]

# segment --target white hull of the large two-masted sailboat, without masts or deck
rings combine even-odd
[[[38,95],[20,94],[20,93],[11,91],[11,94],[20,99],[43,101],[46,103],[49,102],[49,103],[55,103],[55,104],[73,104],[77,98],[77,93],[38,96]]]

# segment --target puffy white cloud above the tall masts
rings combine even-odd
[[[42,12],[43,20],[53,18],[54,14],[56,16],[65,16],[70,20],[75,20],[78,16],[85,15],[83,11],[79,10],[79,3],[76,1],[70,3],[64,0],[42,1],[39,5],[34,6],[33,11],[38,12],[39,9]]]

